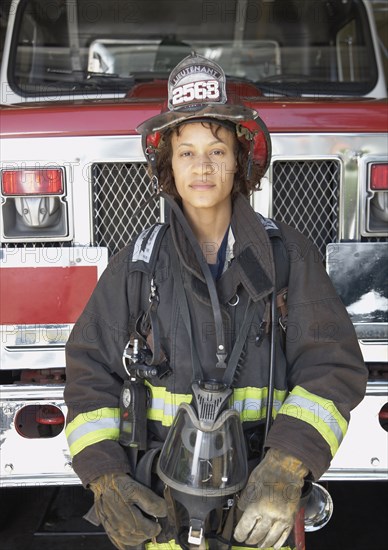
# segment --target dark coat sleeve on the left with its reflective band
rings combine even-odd
[[[82,483],[127,472],[119,437],[122,353],[129,339],[128,249],[109,263],[66,345],[66,436]]]

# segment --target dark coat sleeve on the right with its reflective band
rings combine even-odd
[[[362,400],[367,368],[357,336],[316,247],[284,227],[289,253],[286,358],[289,395],[266,446],[299,458],[314,479],[329,468]]]

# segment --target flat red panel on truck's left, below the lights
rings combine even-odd
[[[96,266],[2,268],[0,324],[74,323],[96,282]]]

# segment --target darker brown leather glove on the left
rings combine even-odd
[[[167,514],[164,499],[126,474],[105,474],[90,483],[94,506],[106,534],[119,550],[156,537],[161,527],[141,511],[156,517]]]

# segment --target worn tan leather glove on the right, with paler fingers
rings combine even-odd
[[[300,460],[270,449],[241,494],[238,508],[244,513],[235,539],[259,548],[281,548],[294,525],[307,473]]]

